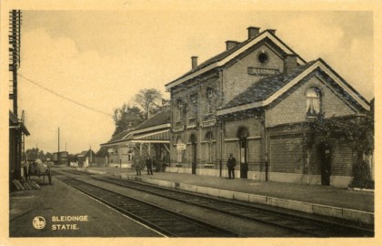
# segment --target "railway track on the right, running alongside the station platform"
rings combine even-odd
[[[374,231],[364,228],[347,226],[344,224],[328,222],[325,220],[314,220],[312,218],[297,217],[296,215],[256,208],[253,205],[245,205],[234,201],[216,199],[190,192],[160,188],[157,186],[144,184],[141,182],[116,179],[110,177],[94,177],[109,183],[120,185],[129,189],[140,190],[157,196],[166,197],[172,200],[185,202],[194,206],[206,208],[226,213],[246,220],[284,228],[291,231],[302,232],[313,237],[373,237]]]

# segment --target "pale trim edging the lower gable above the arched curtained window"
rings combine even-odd
[[[295,77],[294,79],[289,81],[284,87],[281,87],[280,89],[278,89],[275,94],[273,94],[270,97],[267,97],[266,100],[261,101],[261,102],[253,102],[253,103],[249,103],[249,104],[245,104],[245,105],[240,105],[240,106],[236,106],[233,108],[225,108],[225,109],[217,110],[216,115],[221,116],[221,115],[225,115],[228,113],[233,113],[233,112],[237,112],[237,111],[241,111],[241,110],[246,110],[246,109],[250,109],[250,108],[258,108],[258,107],[269,105],[270,103],[275,101],[277,97],[280,97],[281,95],[283,95],[288,89],[295,86],[304,77],[306,77],[308,74],[310,74],[312,71],[314,71],[318,67],[321,68],[325,73],[327,73],[327,75],[329,77],[334,79],[335,82],[340,87],[345,89],[347,91],[347,93],[351,97],[353,97],[357,101],[357,103],[359,103],[363,108],[370,110],[370,107],[367,105],[366,102],[364,102],[360,97],[358,97],[358,95],[355,92],[353,92],[349,87],[347,87],[347,85],[345,83],[343,83],[341,81],[341,79],[339,77],[337,77],[333,72],[331,72],[330,69],[325,64],[323,64],[321,61],[317,60],[316,63],[312,64],[310,67],[307,67],[307,69],[304,72],[302,72],[297,77]]]

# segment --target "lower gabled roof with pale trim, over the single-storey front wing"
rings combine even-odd
[[[349,100],[352,104],[356,104],[358,108],[370,109],[367,100],[362,97],[347,81],[339,77],[337,73],[327,65],[325,61],[318,58],[315,61],[307,63],[305,66],[297,67],[290,74],[278,74],[272,77],[263,78],[252,86],[248,87],[244,92],[240,93],[229,101],[225,106],[218,109],[217,115],[225,115],[249,108],[260,108],[274,102],[296,86],[304,77],[319,69],[337,90]]]

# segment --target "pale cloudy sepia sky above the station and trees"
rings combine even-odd
[[[25,10],[18,70],[19,110],[31,133],[25,149],[57,151],[60,128],[61,150],[96,151],[113,134],[115,108],[143,88],[168,98],[165,84],[190,70],[191,56],[200,64],[226,40],[246,40],[248,26],[276,29],[305,60],[321,57],[374,97],[371,12]]]

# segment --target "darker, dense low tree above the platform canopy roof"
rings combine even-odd
[[[114,121],[116,129],[112,137],[124,130],[131,129],[142,123],[145,119],[144,113],[136,106],[129,106],[126,103],[121,108],[114,111]]]

